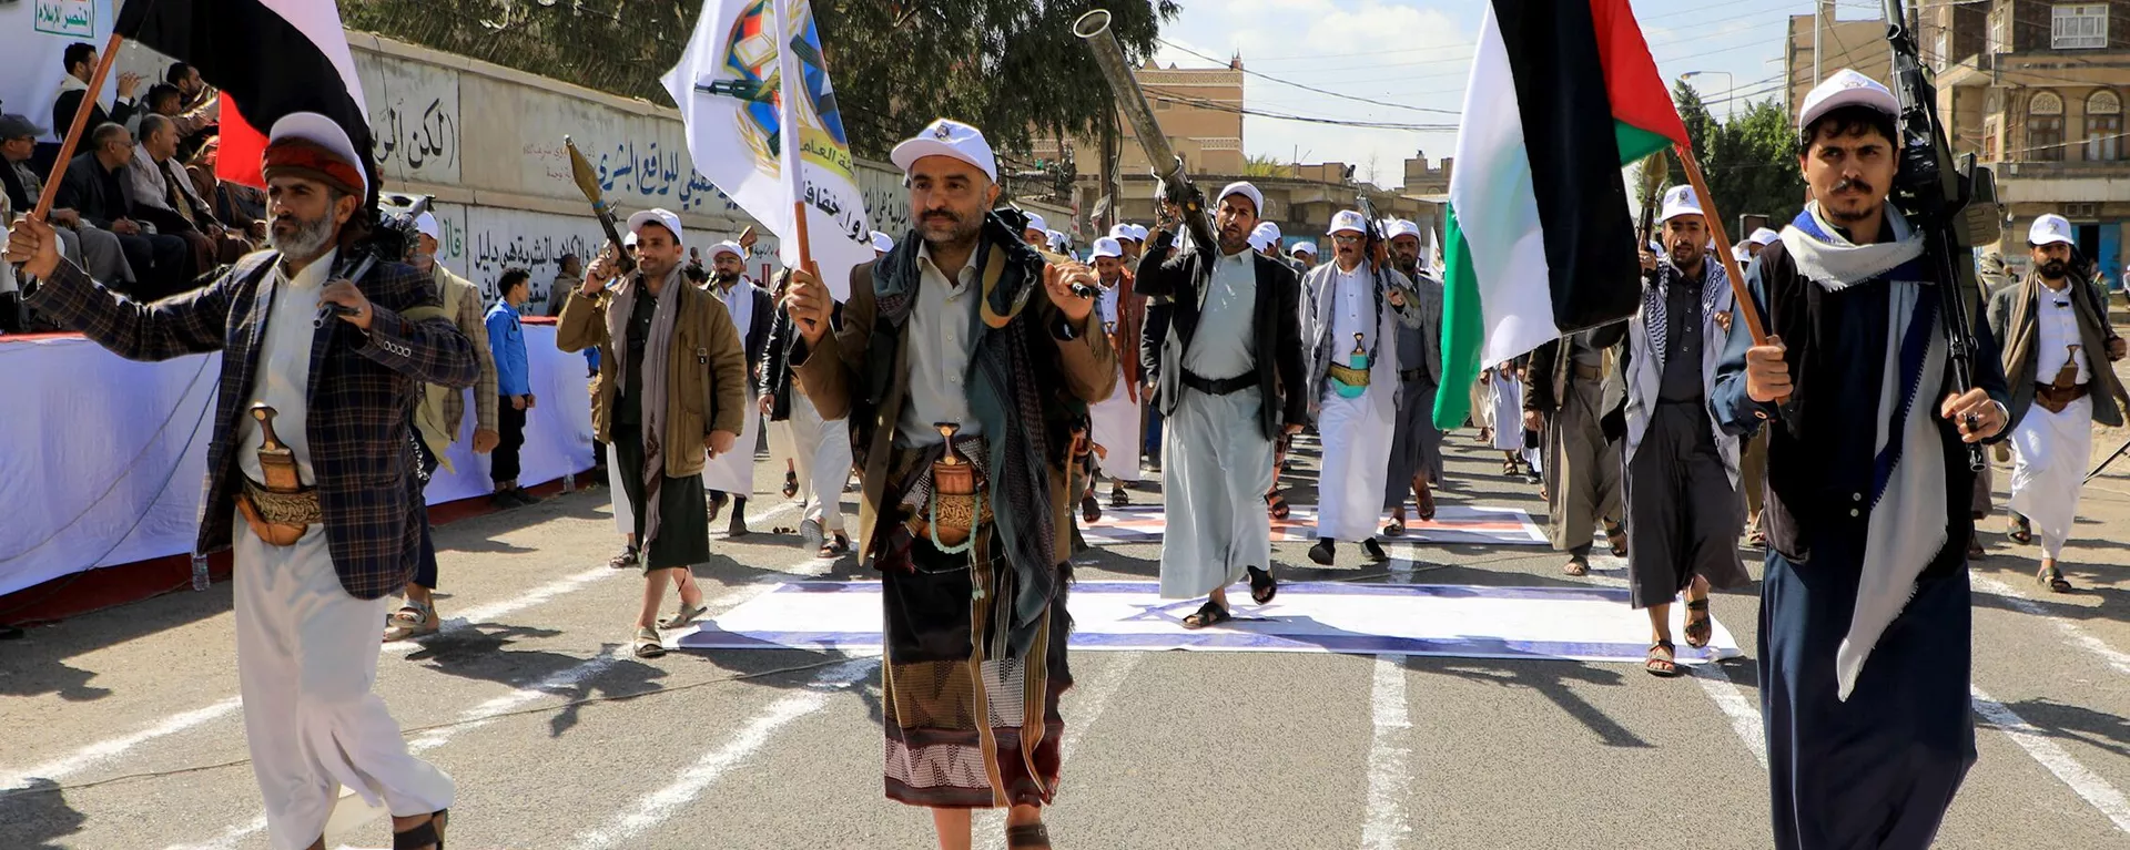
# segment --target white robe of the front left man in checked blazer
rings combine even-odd
[[[305,432],[311,322],[328,268],[332,254],[294,279],[275,273],[273,283],[260,288],[273,309],[256,352],[251,403],[277,411],[275,437],[294,454],[305,484],[315,481]],[[236,430],[236,464],[262,481],[258,447],[264,435],[249,415]],[[452,778],[407,752],[398,722],[371,692],[377,626],[390,601],[362,601],[341,588],[322,524],[281,547],[260,541],[239,513],[232,547],[236,684],[271,844],[300,850],[317,841],[339,786],[403,818],[449,807]]]

